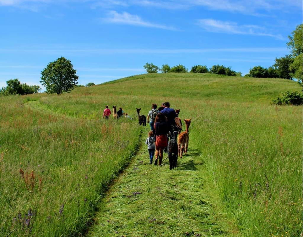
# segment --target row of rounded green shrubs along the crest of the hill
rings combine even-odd
[[[188,69],[183,65],[179,64],[173,67],[170,67],[168,64],[163,64],[161,68],[156,66],[153,63],[146,63],[143,66],[147,73],[188,73]],[[241,72],[235,72],[231,70],[231,67],[225,67],[223,65],[214,65],[210,69],[204,65],[195,65],[191,67],[189,73],[214,73],[227,76],[241,76]]]

